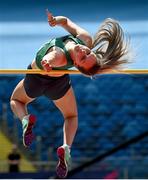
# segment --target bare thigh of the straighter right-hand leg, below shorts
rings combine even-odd
[[[53,101],[64,117],[77,116],[77,104],[72,87],[60,99]]]

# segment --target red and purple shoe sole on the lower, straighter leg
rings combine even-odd
[[[56,168],[56,173],[59,178],[65,178],[68,173],[68,166],[65,160],[65,149],[63,147],[59,147],[57,149],[57,156],[59,158],[59,162]]]

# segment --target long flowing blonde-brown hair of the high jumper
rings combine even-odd
[[[111,18],[106,19],[94,36],[93,52],[97,56],[101,70],[118,69],[128,63],[128,44],[119,23]]]

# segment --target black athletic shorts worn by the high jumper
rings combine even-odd
[[[28,69],[32,69],[31,65]],[[60,77],[50,77],[41,74],[26,74],[24,79],[24,88],[30,98],[46,96],[51,100],[57,100],[63,97],[71,87],[71,81],[68,74]]]

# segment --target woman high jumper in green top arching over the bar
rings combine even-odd
[[[51,27],[61,26],[67,30],[68,35],[53,38],[43,44],[28,69],[49,72],[75,67],[83,75],[91,77],[120,68],[120,65],[129,61],[126,56],[127,41],[117,21],[106,19],[93,38],[67,17],[53,16],[48,10],[47,17]],[[59,178],[65,178],[68,173],[70,149],[78,127],[78,112],[69,75],[51,73],[27,74],[14,89],[10,105],[22,122],[23,144],[26,147],[29,147],[34,139],[32,128],[36,122],[35,116],[28,113],[27,105],[44,95],[61,111],[64,117],[63,145],[57,149],[59,162],[56,171]]]

